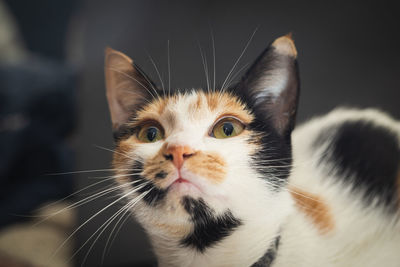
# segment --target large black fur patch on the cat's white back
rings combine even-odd
[[[362,189],[368,204],[378,197],[386,206],[398,206],[397,175],[400,149],[397,136],[389,129],[368,121],[348,121],[326,129],[316,139],[320,146],[330,142],[321,162],[334,165],[334,171],[354,190]]]

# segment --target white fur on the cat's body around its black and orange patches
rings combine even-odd
[[[392,129],[400,124],[374,110],[337,109],[299,127],[292,135],[294,167],[291,186],[323,196],[334,217],[332,232],[321,235],[310,221],[295,210],[283,226],[275,266],[400,266],[399,216],[390,215],[373,203],[366,207],[362,192],[355,193],[340,179],[327,176],[316,162],[322,156],[312,142],[321,129],[343,121],[366,120]],[[313,153],[311,153],[313,152]]]

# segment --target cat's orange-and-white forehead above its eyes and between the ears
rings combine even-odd
[[[153,119],[179,128],[184,126],[182,123],[207,123],[224,115],[235,116],[244,123],[253,120],[251,112],[236,96],[200,90],[157,98],[137,113],[136,120]]]

